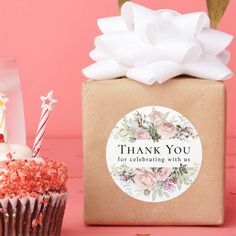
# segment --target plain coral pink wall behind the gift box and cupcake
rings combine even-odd
[[[206,10],[204,0],[137,0],[152,8],[182,13]],[[236,1],[219,26],[235,35]],[[116,0],[0,0],[0,55],[15,56],[21,74],[27,134],[33,136],[40,115],[39,96],[55,90],[60,103],[51,116],[48,137],[81,136],[81,69],[91,63],[88,52],[99,34],[96,19],[118,14]],[[235,71],[236,42],[230,67]],[[236,136],[236,80],[228,89],[228,136]],[[213,106],[215,104],[212,104]]]

